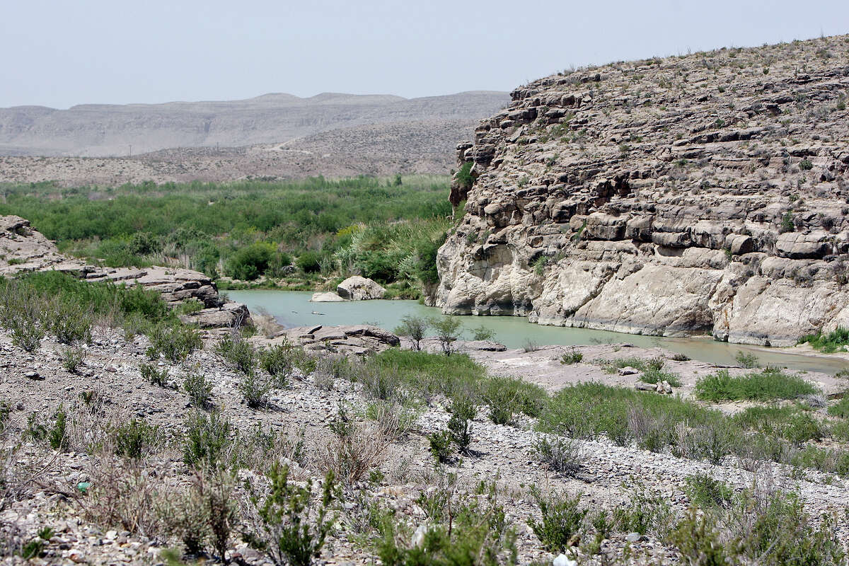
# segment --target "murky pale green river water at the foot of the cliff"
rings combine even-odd
[[[369,323],[391,330],[404,315],[440,316],[436,307],[415,300],[362,300],[344,303],[311,303],[312,293],[301,291],[249,290],[228,291],[232,300],[245,303],[252,312],[267,311],[284,327],[323,324]],[[777,365],[794,370],[834,374],[849,368],[849,362],[826,356],[803,356],[781,348],[755,348],[727,344],[706,338],[661,338],[586,328],[561,328],[531,324],[524,317],[459,317],[464,328],[484,326],[495,332],[495,339],[508,348],[521,348],[531,341],[537,345],[629,344],[680,352],[694,360],[717,365],[734,365],[740,351],[752,351],[762,365]],[[469,338],[470,333],[466,333]],[[470,338],[469,338],[470,339]]]

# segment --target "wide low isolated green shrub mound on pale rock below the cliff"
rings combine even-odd
[[[796,399],[817,392],[818,389],[804,379],[770,368],[737,377],[722,369],[700,378],[695,384],[695,395],[702,401]]]

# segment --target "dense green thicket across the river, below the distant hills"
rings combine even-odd
[[[23,216],[61,251],[108,266],[177,263],[211,277],[283,279],[294,289],[353,272],[381,283],[433,283],[450,227],[447,188],[443,177],[39,183],[4,188],[0,215]]]

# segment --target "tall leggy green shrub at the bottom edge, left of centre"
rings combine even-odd
[[[306,486],[290,483],[287,466],[275,462],[268,480],[267,492],[248,484],[250,524],[245,541],[278,566],[309,566],[336,520],[332,506],[341,492],[333,474],[324,478],[320,499],[312,494],[312,479]]]

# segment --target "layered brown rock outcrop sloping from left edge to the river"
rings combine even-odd
[[[72,273],[87,281],[141,285],[158,291],[173,307],[198,300],[203,309],[183,317],[201,328],[228,327],[250,321],[245,305],[222,300],[210,277],[177,267],[100,267],[59,253],[55,244],[20,216],[0,216],[0,277],[20,272]]]

